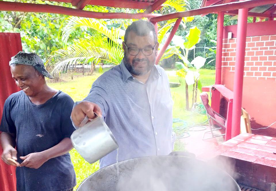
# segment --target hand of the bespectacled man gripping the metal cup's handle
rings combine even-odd
[[[85,118],[85,115],[87,115],[89,119],[94,119],[97,117],[94,112],[97,113],[98,116],[102,115],[101,108],[97,104],[91,103],[89,101],[83,101],[74,107],[71,113],[71,119],[74,125],[79,127]]]

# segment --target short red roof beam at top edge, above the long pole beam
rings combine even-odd
[[[65,0],[63,0],[65,1]],[[73,6],[77,6],[80,1],[72,1]],[[130,1],[130,0],[90,0],[87,5],[96,5],[104,7],[118,7],[118,8],[129,8],[129,9],[147,9],[153,3]],[[160,9],[161,7],[158,7]]]

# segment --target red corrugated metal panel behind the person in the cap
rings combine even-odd
[[[19,33],[0,33],[0,120],[3,112],[3,105],[7,97],[19,89],[11,78],[9,61],[12,56],[22,51],[21,38]],[[2,148],[0,145],[0,155]],[[15,168],[6,165],[0,159],[0,190],[16,191]]]

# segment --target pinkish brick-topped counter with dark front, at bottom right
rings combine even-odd
[[[238,136],[216,147],[216,161],[235,164],[236,180],[260,190],[276,191],[276,138],[249,133]],[[225,169],[229,173],[231,171]],[[233,170],[232,170],[233,171]]]

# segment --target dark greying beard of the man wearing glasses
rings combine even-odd
[[[156,58],[154,58],[153,63],[155,63],[155,60],[156,60]],[[154,64],[151,64],[150,60],[147,59],[147,58],[143,58],[143,59],[136,58],[136,59],[133,59],[132,60],[132,65],[131,65],[129,59],[127,58],[127,56],[124,55],[123,61],[124,61],[124,65],[126,66],[127,70],[131,74],[134,74],[136,76],[141,76],[141,75],[147,74],[152,69],[152,67],[154,66]],[[133,67],[135,61],[136,62],[146,62],[147,63],[147,67],[145,68],[145,70],[143,70],[143,71],[135,70],[135,68]]]

